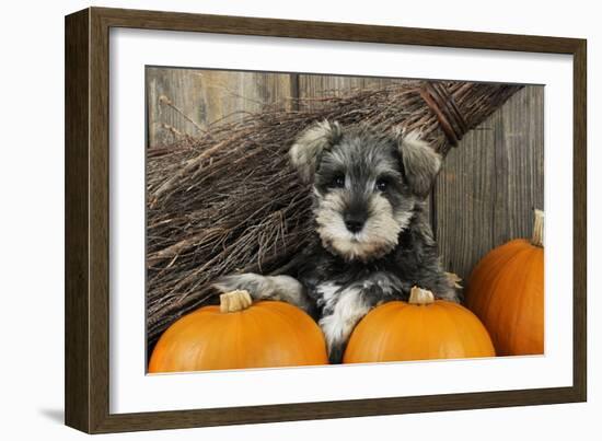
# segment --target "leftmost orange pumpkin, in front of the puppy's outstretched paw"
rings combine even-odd
[[[288,303],[252,303],[246,291],[220,297],[175,322],[152,352],[149,372],[327,364],[315,322]]]

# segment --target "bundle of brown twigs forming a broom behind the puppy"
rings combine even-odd
[[[149,149],[147,332],[152,346],[182,314],[211,301],[210,282],[233,271],[282,271],[312,233],[308,188],[288,163],[315,120],[418,129],[447,153],[520,86],[406,82],[343,97],[299,100],[200,138]],[[290,107],[290,106],[289,106]]]

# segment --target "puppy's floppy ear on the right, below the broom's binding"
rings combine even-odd
[[[417,131],[398,134],[397,146],[409,187],[426,197],[441,169],[441,155]]]

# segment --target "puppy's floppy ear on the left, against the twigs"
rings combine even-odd
[[[289,156],[304,183],[313,179],[322,152],[333,147],[340,136],[338,123],[323,120],[311,125],[297,137]]]

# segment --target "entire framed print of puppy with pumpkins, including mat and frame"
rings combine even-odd
[[[67,425],[584,401],[586,163],[582,39],[68,15]]]

